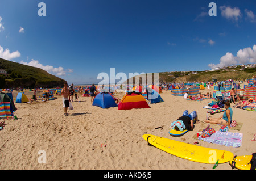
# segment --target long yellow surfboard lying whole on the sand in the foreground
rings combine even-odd
[[[214,164],[218,160],[218,163],[226,163],[234,157],[233,153],[226,150],[217,150],[186,144],[184,142],[170,140],[151,134],[144,134],[142,137],[148,144],[151,144],[156,148],[194,162]]]

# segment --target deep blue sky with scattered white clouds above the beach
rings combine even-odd
[[[0,57],[68,84],[98,83],[110,68],[128,76],[256,63],[255,31],[255,0],[0,1]]]

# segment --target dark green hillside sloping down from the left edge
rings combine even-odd
[[[0,58],[0,69],[7,71],[7,76],[0,75],[0,88],[6,87],[59,87],[65,80],[47,73],[40,68],[19,64]]]

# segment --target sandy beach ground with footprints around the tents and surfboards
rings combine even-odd
[[[213,92],[213,86],[211,92]],[[200,90],[203,94],[207,89]],[[41,92],[42,93],[42,92]],[[32,91],[25,92],[29,99]],[[122,99],[125,93],[115,96]],[[173,96],[171,91],[160,94],[163,103],[150,104],[150,108],[118,110],[118,107],[102,109],[92,106],[90,97],[79,95],[79,102],[73,102],[74,110],[64,116],[62,97],[55,100],[32,103],[15,103],[18,110],[14,115],[18,120],[6,120],[0,131],[0,169],[126,169],[126,170],[187,170],[212,169],[212,164],[197,163],[168,154],[154,146],[148,146],[142,138],[145,133],[207,148],[231,151],[234,155],[251,155],[256,151],[256,142],[251,141],[256,133],[255,112],[233,108],[233,120],[242,122],[242,146],[234,148],[210,144],[193,138],[198,131],[207,127],[208,103],[185,100],[183,96]],[[14,102],[16,98],[13,93]],[[75,100],[75,98],[74,98]],[[184,136],[172,137],[168,133],[172,121],[177,120],[184,110],[197,111],[201,123]],[[220,117],[222,113],[211,115]],[[155,129],[163,127],[163,129]],[[220,125],[210,124],[219,130]],[[106,146],[101,146],[101,145]],[[46,153],[46,163],[39,163],[39,150]],[[229,163],[219,164],[216,170],[232,170]]]

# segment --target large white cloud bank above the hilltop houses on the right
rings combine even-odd
[[[256,45],[251,47],[240,49],[237,52],[237,56],[233,56],[232,53],[228,52],[225,56],[220,58],[220,63],[209,64],[208,66],[212,69],[220,67],[223,68],[224,66],[236,65],[236,64],[255,64],[256,63]]]

